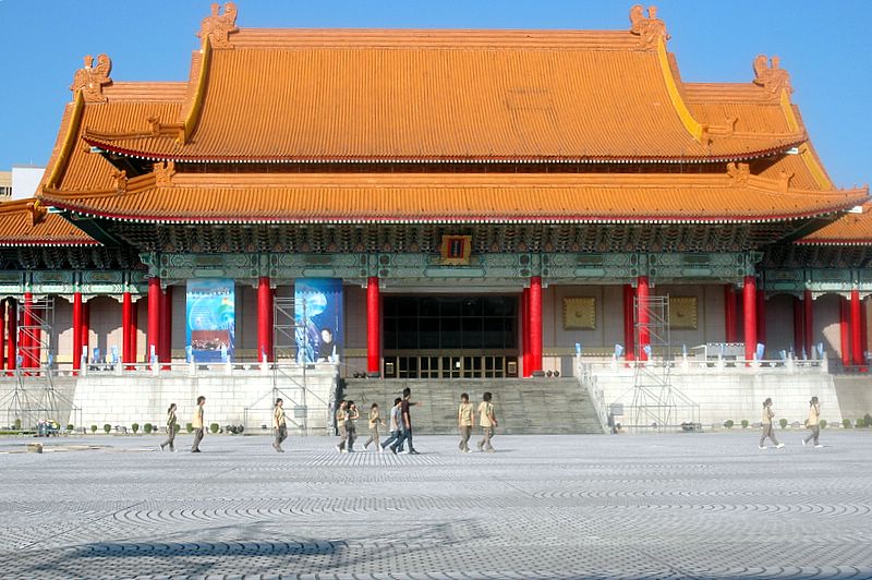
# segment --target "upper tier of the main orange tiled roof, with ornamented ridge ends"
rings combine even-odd
[[[84,140],[175,161],[690,162],[807,138],[785,117],[777,62],[755,64],[754,83],[710,85],[726,94],[691,88],[663,22],[635,9],[610,32],[237,29],[226,10],[204,21],[174,110],[108,111]],[[132,100],[98,61],[74,83],[88,108]]]

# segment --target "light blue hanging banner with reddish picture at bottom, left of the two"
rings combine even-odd
[[[187,280],[187,350],[197,362],[227,362],[235,343],[235,292],[231,279]]]

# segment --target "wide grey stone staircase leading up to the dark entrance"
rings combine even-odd
[[[460,394],[467,392],[477,409],[482,394],[491,391],[496,407],[498,433],[558,434],[603,433],[586,389],[576,378],[500,378],[500,379],[373,379],[349,378],[340,386],[338,398],[351,399],[361,410],[358,432],[366,431],[364,416],[377,402],[383,416],[400,397],[402,389],[412,389],[412,425],[416,434],[445,435],[457,433],[457,407]],[[387,419],[385,420],[387,423]],[[475,418],[479,432],[479,418]]]

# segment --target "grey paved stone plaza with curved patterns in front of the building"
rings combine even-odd
[[[778,435],[0,439],[0,577],[872,578],[872,433]]]

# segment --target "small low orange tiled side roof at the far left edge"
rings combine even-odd
[[[88,234],[57,214],[44,213],[36,200],[0,203],[0,246],[98,245]]]

